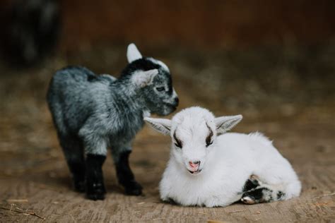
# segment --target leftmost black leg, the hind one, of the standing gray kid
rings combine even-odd
[[[86,165],[83,157],[83,143],[80,139],[69,136],[59,136],[59,141],[74,181],[75,190],[85,192]]]

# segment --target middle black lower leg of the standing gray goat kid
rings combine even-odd
[[[105,199],[106,189],[102,174],[105,159],[105,155],[86,155],[86,195],[91,200]]]

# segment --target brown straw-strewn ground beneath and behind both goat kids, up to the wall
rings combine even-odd
[[[170,66],[178,110],[201,105],[216,115],[243,114],[235,131],[260,131],[274,140],[302,181],[299,198],[216,208],[161,203],[158,183],[170,139],[148,126],[131,155],[143,196],[124,195],[111,157],[104,165],[105,200],[74,192],[45,103],[49,79],[68,64],[119,73],[125,47],[59,54],[25,70],[0,65],[0,222],[335,222],[334,43],[216,52],[143,49]]]

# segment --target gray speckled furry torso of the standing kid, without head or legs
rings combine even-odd
[[[134,89],[130,78],[95,76],[87,68],[67,67],[52,78],[47,98],[61,137],[78,135],[86,153],[106,155],[107,147],[128,149],[142,128],[143,112],[151,112],[142,93]],[[173,111],[160,107],[162,111],[153,110],[158,114]]]

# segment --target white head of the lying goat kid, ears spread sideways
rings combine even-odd
[[[151,127],[172,138],[172,156],[192,175],[205,168],[208,154],[216,149],[216,137],[242,120],[242,115],[215,118],[200,107],[184,109],[169,119],[145,118]]]

